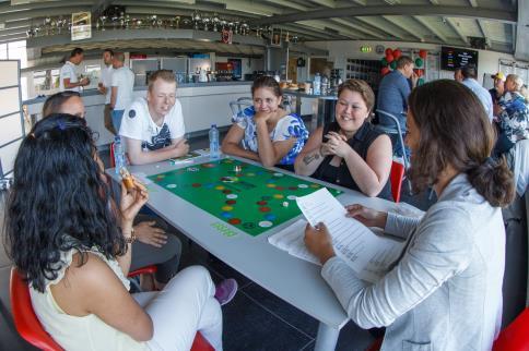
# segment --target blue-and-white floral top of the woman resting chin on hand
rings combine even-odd
[[[245,136],[243,138],[243,147],[254,153],[258,152],[259,143],[257,141],[257,126],[254,116],[256,110],[254,107],[248,107],[235,114],[232,120],[235,124],[245,130]],[[270,132],[270,140],[272,143],[287,141],[291,137],[296,138],[296,143],[290,149],[290,152],[279,161],[279,165],[294,165],[297,155],[301,153],[303,146],[308,138],[308,131],[303,123],[299,116],[292,113],[286,114]]]

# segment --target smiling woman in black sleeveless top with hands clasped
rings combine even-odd
[[[310,135],[294,164],[296,173],[390,199],[391,141],[369,123],[374,102],[364,81],[341,84],[336,122]]]

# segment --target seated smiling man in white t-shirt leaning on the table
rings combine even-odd
[[[156,71],[149,77],[146,99],[132,102],[119,130],[126,138],[130,162],[145,165],[186,155],[189,145],[185,132],[175,74]]]

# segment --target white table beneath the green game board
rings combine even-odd
[[[258,165],[250,160],[240,160]],[[197,158],[195,164],[204,161],[209,161],[209,157]],[[164,161],[154,165],[131,166],[129,170],[132,173],[152,175],[192,165],[174,166]],[[277,170],[290,173],[281,169]],[[107,173],[113,178],[116,177],[114,169],[108,169]],[[311,178],[293,175],[330,185]],[[338,196],[342,204],[360,203],[377,209],[402,206],[377,197],[366,197],[358,192],[341,186],[330,186],[344,192]],[[148,206],[151,209],[232,268],[319,320],[315,350],[334,350],[340,329],[349,318],[332,290],[321,278],[320,267],[289,255],[269,244],[267,240],[268,237],[296,221],[298,217],[258,237],[251,237],[154,183],[149,184],[149,187]],[[409,209],[413,209],[413,207],[409,207]]]

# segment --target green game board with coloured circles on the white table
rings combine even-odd
[[[236,166],[240,169],[236,170]],[[252,237],[298,216],[295,197],[322,186],[231,158],[184,167],[149,179]],[[334,196],[341,193],[328,190]]]

